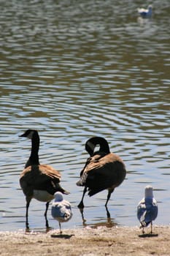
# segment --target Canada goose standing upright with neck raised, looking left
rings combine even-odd
[[[54,198],[57,191],[63,194],[69,194],[64,190],[59,182],[61,174],[50,165],[39,164],[39,134],[35,129],[28,129],[20,137],[31,139],[31,154],[26,162],[25,169],[20,174],[20,187],[26,195],[26,227],[28,228],[28,207],[32,198],[47,202],[45,210],[46,227],[49,227],[47,221],[47,209],[49,203]]]

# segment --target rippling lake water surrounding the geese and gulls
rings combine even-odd
[[[18,138],[38,129],[42,163],[62,174],[74,217],[63,228],[138,225],[136,205],[152,184],[156,224],[169,225],[169,1],[1,1],[0,223],[25,227],[19,177],[31,146]],[[88,154],[85,141],[102,136],[123,158],[127,176],[109,200],[85,196],[83,222],[76,186]],[[30,227],[45,230],[45,203],[31,201]],[[50,226],[58,223],[48,213]]]

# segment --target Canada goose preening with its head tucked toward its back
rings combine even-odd
[[[99,150],[95,152],[94,149],[97,145],[99,145]],[[84,208],[83,199],[87,190],[88,195],[92,196],[104,189],[108,189],[105,203],[107,208],[110,195],[125,178],[125,165],[117,154],[110,153],[109,145],[104,138],[90,138],[85,143],[85,149],[90,154],[90,158],[87,159],[85,167],[80,173],[80,181],[77,182],[77,186],[85,187],[78,207]]]

